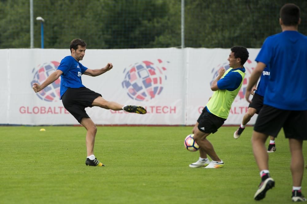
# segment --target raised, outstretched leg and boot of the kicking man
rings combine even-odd
[[[147,113],[146,109],[142,106],[124,106],[119,103],[113,101],[107,101],[101,96],[95,98],[92,103],[92,106],[99,106],[104,109],[111,109],[111,110],[124,110],[129,113],[138,113],[138,114],[145,114]]]

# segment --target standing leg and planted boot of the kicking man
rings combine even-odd
[[[87,158],[85,161],[86,165],[89,166],[105,166],[103,163],[97,160],[94,155],[94,144],[97,128],[91,118],[84,117],[81,120],[81,124],[86,129],[86,150]]]

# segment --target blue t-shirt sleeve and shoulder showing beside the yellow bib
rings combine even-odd
[[[217,81],[217,87],[220,90],[227,89],[227,91],[235,91],[240,86],[242,82],[242,76],[240,73],[234,72],[235,70],[240,70],[242,72],[245,72],[244,67],[238,69],[232,69],[222,79]]]

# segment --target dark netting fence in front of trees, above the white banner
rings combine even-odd
[[[186,47],[261,47],[281,32],[286,0],[185,0]],[[307,1],[299,31],[307,35]],[[34,47],[68,48],[74,38],[88,49],[181,47],[181,0],[33,0]],[[0,48],[30,47],[30,1],[0,0]]]

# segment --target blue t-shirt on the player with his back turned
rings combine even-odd
[[[256,61],[270,68],[263,104],[307,110],[307,36],[284,31],[264,41]]]

